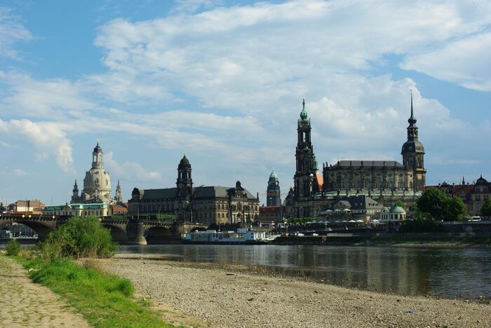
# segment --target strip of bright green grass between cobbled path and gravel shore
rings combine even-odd
[[[34,282],[60,294],[95,327],[173,327],[166,324],[149,303],[133,298],[130,280],[75,264],[69,259],[46,263],[41,259],[15,257]]]

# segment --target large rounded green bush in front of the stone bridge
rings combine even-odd
[[[45,261],[62,257],[111,257],[117,250],[111,233],[97,217],[72,217],[39,245]]]

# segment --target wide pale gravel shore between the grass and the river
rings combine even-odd
[[[491,305],[397,296],[185,264],[156,255],[98,260],[135,283],[168,320],[210,327],[491,327]],[[182,313],[182,316],[179,315]],[[194,321],[193,321],[194,320]]]

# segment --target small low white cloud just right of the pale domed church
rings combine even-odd
[[[157,171],[151,171],[143,168],[142,165],[136,162],[126,161],[119,164],[114,160],[112,151],[109,151],[104,158],[105,166],[113,177],[124,177],[133,182],[142,181],[160,181],[161,175]]]

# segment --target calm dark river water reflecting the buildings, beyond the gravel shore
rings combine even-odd
[[[123,245],[121,253],[273,267],[344,287],[446,298],[491,297],[491,249],[317,245]]]

